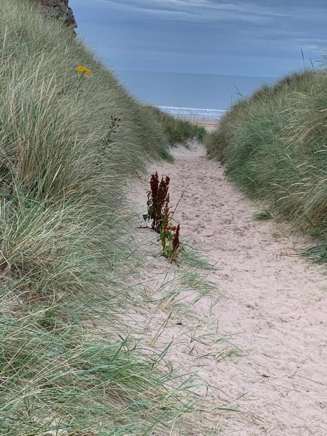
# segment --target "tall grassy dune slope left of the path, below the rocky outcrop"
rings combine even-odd
[[[189,406],[173,374],[108,333],[132,298],[121,187],[162,127],[60,23],[22,0],[0,16],[0,434],[169,434]]]

